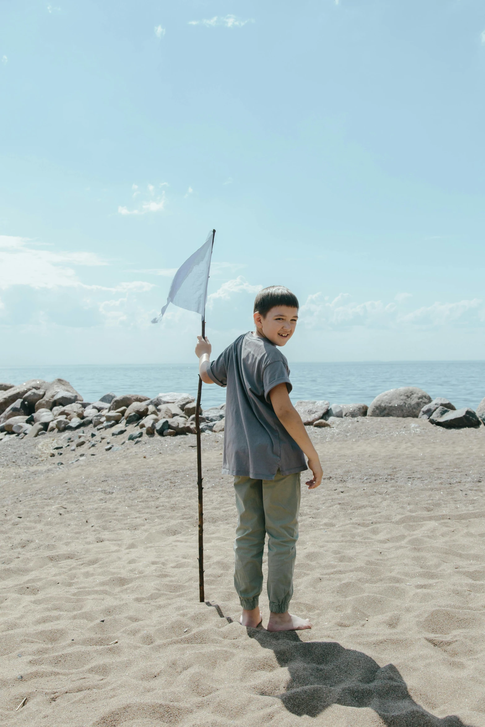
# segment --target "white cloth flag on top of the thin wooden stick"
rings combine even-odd
[[[214,230],[211,230],[204,244],[177,270],[170,286],[167,302],[161,309],[160,315],[153,318],[152,323],[161,321],[169,303],[178,305],[179,308],[185,308],[185,310],[193,310],[204,318],[213,238]]]

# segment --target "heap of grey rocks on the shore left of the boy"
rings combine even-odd
[[[129,440],[143,435],[176,436],[196,433],[196,403],[193,396],[161,393],[155,398],[141,394],[108,393],[86,402],[69,382],[31,379],[23,385],[0,384],[0,440],[15,435],[38,437],[58,431],[111,430],[118,436],[132,430]],[[225,404],[202,411],[201,432],[224,431]],[[94,436],[92,433],[91,436]]]

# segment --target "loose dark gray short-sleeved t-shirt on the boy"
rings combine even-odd
[[[278,346],[252,332],[231,343],[207,374],[227,386],[224,475],[273,480],[306,470],[305,456],[274,413],[270,390],[289,381],[288,361]]]

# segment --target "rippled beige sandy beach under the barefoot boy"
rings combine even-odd
[[[195,436],[82,458],[59,433],[2,441],[2,722],[485,726],[484,427],[310,430],[324,481],[302,492],[292,611],[313,629],[281,635],[237,623],[223,435],[202,437],[219,608],[199,603]]]

